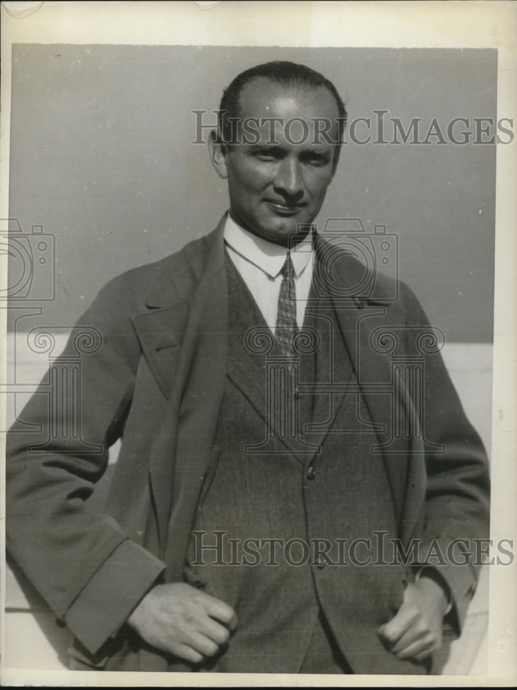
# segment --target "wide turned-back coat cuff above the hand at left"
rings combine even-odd
[[[165,564],[142,546],[123,541],[68,608],[65,623],[83,647],[96,654],[164,569]]]

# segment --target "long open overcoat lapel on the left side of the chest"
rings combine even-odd
[[[161,558],[180,575],[203,479],[216,454],[212,442],[224,390],[223,227],[222,220],[196,255],[181,253],[148,299],[153,310],[133,319],[148,366],[168,399],[151,449],[150,486]],[[174,544],[174,554],[166,557],[168,544]]]

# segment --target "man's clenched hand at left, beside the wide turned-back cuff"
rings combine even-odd
[[[128,623],[152,647],[197,664],[214,656],[236,627],[234,610],[185,584],[158,584],[141,600]]]

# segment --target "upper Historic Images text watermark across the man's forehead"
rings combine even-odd
[[[215,117],[210,117],[210,113]],[[224,117],[230,137],[226,144],[278,146],[281,139],[293,146],[310,144],[511,144],[514,141],[512,117],[454,117],[439,121],[436,117],[394,117],[389,110],[373,110],[367,117],[347,121],[344,117],[225,117],[225,110],[192,110],[192,144],[206,144],[207,135],[221,130]],[[337,128],[336,128],[337,125]],[[336,133],[337,132],[337,133]]]

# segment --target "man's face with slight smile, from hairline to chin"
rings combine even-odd
[[[261,77],[241,92],[239,115],[238,143],[221,148],[219,168],[214,162],[228,180],[232,217],[254,235],[287,244],[299,224],[314,220],[332,181],[336,145],[318,128],[332,122],[327,138],[337,140],[336,102],[326,88],[286,88]],[[243,124],[248,118],[252,132]]]

